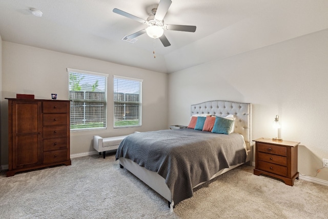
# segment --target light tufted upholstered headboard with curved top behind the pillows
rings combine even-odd
[[[235,115],[235,133],[244,137],[247,148],[252,145],[252,104],[238,103],[233,101],[208,101],[191,105],[191,115],[211,114],[225,117],[229,114]]]

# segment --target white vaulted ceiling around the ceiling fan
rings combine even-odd
[[[165,23],[195,25],[195,33],[166,30],[170,47],[147,34],[134,44],[121,41],[146,26],[112,10],[147,19],[158,3],[0,0],[0,35],[7,42],[171,73],[328,28],[328,0],[172,0]]]

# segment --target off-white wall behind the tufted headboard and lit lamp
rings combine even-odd
[[[282,138],[301,142],[298,171],[315,175],[328,158],[327,39],[328,29],[170,74],[169,124],[188,125],[191,104],[252,103],[253,140],[276,137],[278,114]]]

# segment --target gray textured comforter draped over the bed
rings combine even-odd
[[[244,163],[243,137],[194,129],[160,130],[128,135],[116,160],[129,158],[157,172],[170,189],[174,204],[193,196],[193,187],[209,181],[219,170]]]

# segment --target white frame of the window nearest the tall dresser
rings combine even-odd
[[[92,71],[85,71],[85,70],[78,70],[78,69],[71,69],[71,68],[67,68],[67,72],[68,72],[68,99],[71,102],[80,102],[80,103],[104,103],[105,105],[105,126],[104,127],[88,127],[88,128],[75,128],[72,129],[71,126],[71,115],[70,115],[70,131],[89,131],[89,130],[103,130],[103,129],[107,129],[108,126],[108,119],[107,119],[107,108],[108,108],[108,101],[107,101],[107,93],[108,93],[108,74],[104,74],[104,73],[98,73],[98,72],[92,72]],[[99,100],[88,100],[88,101],[74,101],[74,98],[70,98],[70,74],[71,73],[77,73],[77,74],[84,74],[84,75],[94,75],[94,76],[100,76],[100,77],[104,77],[104,86],[105,86],[105,91],[104,91],[104,95],[105,95],[105,99],[104,101],[99,101]],[[72,104],[70,104],[70,110],[72,109]]]

